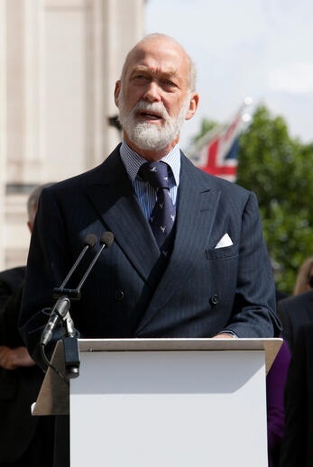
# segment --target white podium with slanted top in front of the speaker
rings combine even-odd
[[[70,413],[71,467],[267,467],[265,375],[280,346],[79,340],[79,377],[69,389],[49,370],[33,413]]]

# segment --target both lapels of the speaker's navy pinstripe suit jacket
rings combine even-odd
[[[136,332],[140,332],[163,307],[185,287],[192,266],[204,254],[216,216],[220,192],[182,155],[174,248],[160,279],[160,251],[141,206],[134,195],[116,149],[95,170],[87,197],[115,242],[124,251],[143,280],[155,288],[152,300]],[[192,261],[191,261],[192,259]],[[182,279],[183,278],[183,279]]]

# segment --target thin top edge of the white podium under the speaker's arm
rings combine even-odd
[[[119,351],[182,351],[182,350],[275,350],[279,351],[281,338],[250,339],[78,339],[80,352]]]

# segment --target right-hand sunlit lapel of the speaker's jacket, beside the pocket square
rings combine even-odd
[[[219,197],[220,192],[211,188],[207,179],[201,177],[198,169],[182,155],[174,248],[138,332],[165,307],[180,287],[186,286],[192,275],[190,264],[197,264],[198,257],[207,249]]]

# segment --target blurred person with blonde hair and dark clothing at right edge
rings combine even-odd
[[[284,389],[281,467],[313,465],[313,257],[299,268],[293,296],[278,302],[282,335],[292,353]]]

